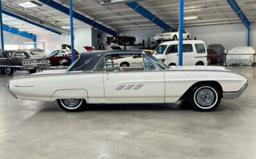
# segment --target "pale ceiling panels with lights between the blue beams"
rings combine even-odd
[[[68,0],[55,0],[68,6]],[[256,0],[236,0],[241,10],[253,24],[256,15]],[[138,3],[172,27],[179,24],[179,0],[142,0]],[[69,16],[37,0],[2,0],[3,9],[58,30],[64,34],[69,30]],[[73,0],[73,10],[113,30],[137,30],[159,28],[156,24],[129,8],[125,3],[102,6],[100,0]],[[241,23],[227,1],[185,0],[185,26]],[[3,24],[36,35],[54,34],[43,28],[3,14]],[[74,27],[88,26],[74,19]]]

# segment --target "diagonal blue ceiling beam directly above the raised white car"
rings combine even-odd
[[[161,19],[159,19],[158,17],[153,15],[151,12],[149,12],[148,10],[143,8],[143,6],[140,6],[137,2],[134,1],[134,2],[130,2],[130,3],[126,3],[126,5],[132,9],[136,10],[136,12],[140,13],[140,15],[143,15],[145,18],[149,19],[154,24],[163,28],[164,30],[168,30],[168,29],[172,28],[171,26],[165,24],[165,22],[163,22]]]

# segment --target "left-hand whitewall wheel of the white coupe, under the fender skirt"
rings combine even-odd
[[[60,99],[57,100],[60,108],[64,111],[75,112],[82,111],[84,109],[84,104],[86,103],[83,99]]]

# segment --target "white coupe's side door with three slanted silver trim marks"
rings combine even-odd
[[[111,55],[108,57],[111,59]],[[108,62],[113,61],[106,59]],[[104,73],[105,100],[111,103],[162,103],[165,100],[165,79],[148,57],[141,57],[140,66],[113,68]]]

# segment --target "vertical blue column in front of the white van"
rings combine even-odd
[[[179,66],[183,66],[183,12],[184,12],[184,1],[180,0],[180,14],[179,14]]]

